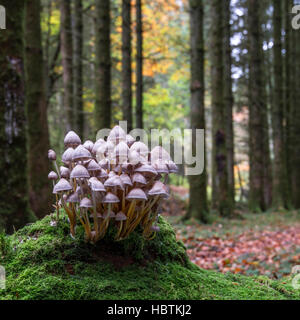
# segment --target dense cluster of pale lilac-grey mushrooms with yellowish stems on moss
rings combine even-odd
[[[161,201],[169,196],[168,175],[177,172],[168,152],[161,146],[150,152],[120,126],[110,131],[106,141],[95,143],[81,144],[79,136],[69,131],[64,144],[60,168],[56,153],[48,151],[56,170],[48,178],[53,180],[57,218],[64,208],[71,235],[75,237],[79,220],[85,240],[91,243],[103,238],[112,224],[116,241],[126,239],[138,225],[145,239],[153,239],[159,231],[155,223]]]

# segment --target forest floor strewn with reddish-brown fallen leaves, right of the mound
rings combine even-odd
[[[182,222],[186,192],[181,187],[171,189],[173,196],[163,215],[199,267],[278,279],[300,265],[299,212],[253,214],[240,210],[237,218],[230,220],[212,216],[210,225],[196,220]]]

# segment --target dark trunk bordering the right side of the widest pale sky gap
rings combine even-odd
[[[263,79],[263,55],[260,40],[260,1],[248,0],[249,45],[249,158],[250,199],[254,212],[267,208],[269,187],[268,126],[265,83]],[[268,188],[266,188],[268,187]]]

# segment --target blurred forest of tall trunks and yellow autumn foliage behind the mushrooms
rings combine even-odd
[[[182,227],[182,220],[201,229],[244,212],[255,223],[255,213],[290,217],[300,208],[300,30],[291,24],[300,1],[0,4],[0,225],[7,232],[53,210],[48,149],[61,154],[70,129],[95,141],[119,120],[129,130],[205,128],[205,172],[185,177],[180,166],[170,181],[166,211],[178,213]]]

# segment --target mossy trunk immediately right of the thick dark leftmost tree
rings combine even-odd
[[[49,134],[40,26],[40,0],[25,2],[25,83],[31,208],[42,218],[51,211],[48,180]]]

